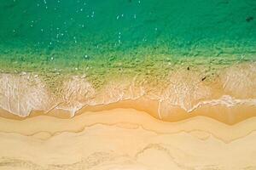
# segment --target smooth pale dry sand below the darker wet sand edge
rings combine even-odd
[[[256,117],[161,122],[143,111],[0,118],[0,169],[256,169]]]

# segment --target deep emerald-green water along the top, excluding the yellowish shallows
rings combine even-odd
[[[3,0],[0,9],[1,44],[256,41],[253,0]]]

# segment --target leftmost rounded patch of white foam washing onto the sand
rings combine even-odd
[[[38,77],[0,75],[0,107],[18,116],[28,116],[31,111],[45,111],[50,106],[50,97]]]

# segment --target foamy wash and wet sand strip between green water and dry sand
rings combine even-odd
[[[101,89],[85,76],[72,76],[63,79],[56,91],[32,74],[0,74],[0,116],[67,119],[84,111],[131,108],[165,122],[208,116],[229,125],[255,116],[255,63],[230,65],[214,76],[201,72],[201,67],[199,71],[189,67],[171,71],[162,82],[159,77],[152,81],[137,76],[113,77]]]

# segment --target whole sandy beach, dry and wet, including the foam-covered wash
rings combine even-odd
[[[207,83],[185,67],[164,90],[126,79],[97,91],[71,77],[62,95],[3,74],[0,169],[255,169],[254,69]]]

